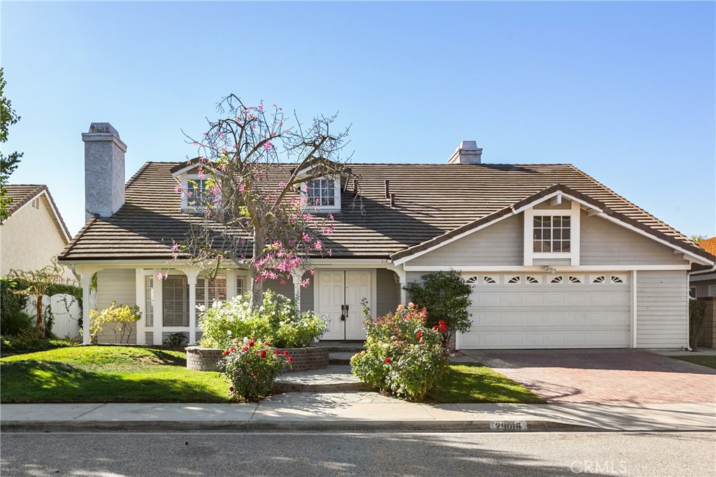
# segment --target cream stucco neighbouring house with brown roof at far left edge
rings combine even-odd
[[[50,264],[72,238],[44,185],[6,186],[9,218],[0,226],[0,273],[38,270]],[[70,269],[66,281],[76,281]]]

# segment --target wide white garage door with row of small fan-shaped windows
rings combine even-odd
[[[624,273],[475,274],[470,349],[626,348],[631,322]]]

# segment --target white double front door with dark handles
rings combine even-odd
[[[318,312],[328,317],[321,339],[365,339],[362,300],[371,307],[371,271],[317,271]]]

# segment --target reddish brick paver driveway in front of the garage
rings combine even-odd
[[[549,403],[714,403],[716,370],[639,350],[470,350]]]

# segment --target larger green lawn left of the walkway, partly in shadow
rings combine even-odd
[[[185,352],[59,348],[0,360],[2,403],[227,403],[218,372],[186,369]]]

